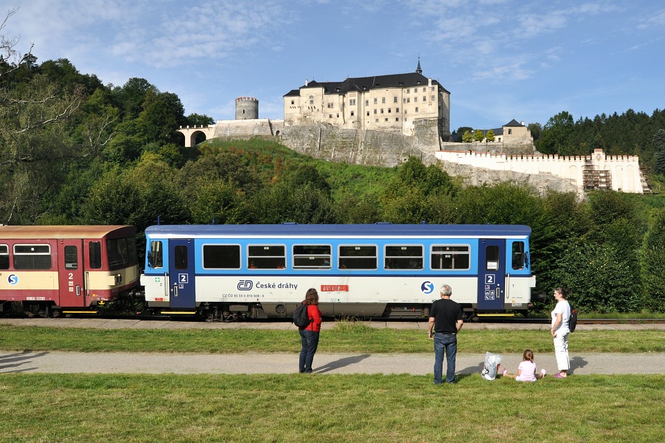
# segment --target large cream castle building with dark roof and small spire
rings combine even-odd
[[[420,125],[418,125],[420,123]],[[425,123],[422,125],[422,123]],[[416,126],[450,136],[450,92],[415,72],[308,82],[284,96],[284,125],[331,125],[340,129],[375,129],[413,136]]]

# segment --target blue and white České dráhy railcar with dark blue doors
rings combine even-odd
[[[315,288],[327,316],[429,316],[450,284],[465,314],[523,311],[531,228],[513,225],[150,226],[141,284],[153,310],[290,316]]]

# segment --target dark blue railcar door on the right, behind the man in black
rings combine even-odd
[[[478,310],[504,309],[506,240],[480,239],[478,257]]]

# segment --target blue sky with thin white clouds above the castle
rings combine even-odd
[[[3,0],[1,31],[37,63],[144,78],[185,114],[282,119],[306,80],[416,70],[450,91],[450,128],[665,107],[662,0]]]

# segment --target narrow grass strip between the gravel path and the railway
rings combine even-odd
[[[571,352],[665,352],[665,330],[578,330]],[[547,330],[462,329],[459,352],[552,352]],[[84,329],[0,326],[0,350],[78,352],[299,352],[296,331],[271,329]],[[321,332],[320,352],[432,352],[424,329],[375,329],[340,322]]]

